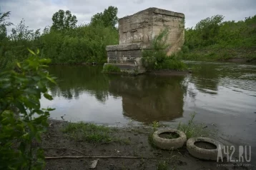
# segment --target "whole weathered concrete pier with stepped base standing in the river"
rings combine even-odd
[[[184,44],[184,14],[164,9],[149,8],[119,19],[119,45],[107,46],[108,64],[123,70],[144,71],[142,49],[149,49],[154,36],[168,29],[167,54]]]

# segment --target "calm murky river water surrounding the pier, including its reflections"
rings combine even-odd
[[[109,126],[177,126],[197,112],[195,121],[217,129],[229,144],[256,152],[256,65],[187,62],[185,76],[102,74],[102,66],[51,66],[58,86],[49,86],[52,119],[89,121]],[[62,118],[61,118],[62,117]],[[238,149],[237,149],[238,150]]]

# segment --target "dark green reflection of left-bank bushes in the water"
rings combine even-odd
[[[53,97],[79,99],[83,91],[104,103],[108,96],[108,78],[101,74],[102,67],[51,66],[49,72],[58,78],[58,86],[50,86]]]

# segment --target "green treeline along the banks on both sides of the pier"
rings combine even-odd
[[[81,64],[107,61],[107,45],[118,44],[117,11],[109,6],[95,14],[89,24],[77,26],[77,17],[59,10],[52,16],[52,25],[44,30],[30,30],[22,20],[7,35],[11,12],[0,14],[0,69],[11,67],[28,55],[27,48],[40,50],[52,64]],[[182,59],[256,59],[256,15],[244,21],[223,21],[216,15],[203,19],[195,27],[185,29]]]

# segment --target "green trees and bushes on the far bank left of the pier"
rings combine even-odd
[[[21,20],[7,34],[10,12],[0,14],[0,69],[13,68],[16,61],[29,55],[27,48],[41,51],[51,64],[82,64],[107,62],[107,45],[118,44],[117,8],[109,6],[104,12],[92,16],[89,24],[77,26],[77,17],[71,11],[59,10],[52,16],[52,26],[44,30],[31,30]]]

